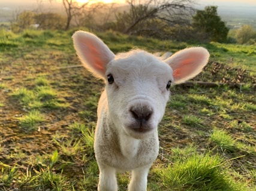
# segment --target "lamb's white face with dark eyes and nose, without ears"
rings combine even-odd
[[[144,51],[119,54],[107,65],[109,113],[119,132],[145,138],[156,131],[172,73],[170,66]]]

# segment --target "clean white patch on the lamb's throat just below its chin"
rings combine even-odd
[[[140,141],[141,140],[129,137],[126,134],[120,135],[120,149],[125,158],[134,158],[134,156],[137,155]]]

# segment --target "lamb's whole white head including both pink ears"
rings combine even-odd
[[[141,50],[115,56],[91,33],[76,32],[73,40],[84,66],[106,82],[109,117],[116,131],[134,138],[157,131],[170,85],[193,78],[209,58],[200,47],[179,51],[166,60]]]

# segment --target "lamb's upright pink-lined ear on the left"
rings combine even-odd
[[[92,33],[77,31],[72,38],[83,66],[98,78],[104,78],[106,65],[115,58],[115,54]]]

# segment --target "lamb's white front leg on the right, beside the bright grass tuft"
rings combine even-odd
[[[146,191],[147,190],[147,174],[151,165],[135,168],[131,172],[131,181],[128,191]]]

